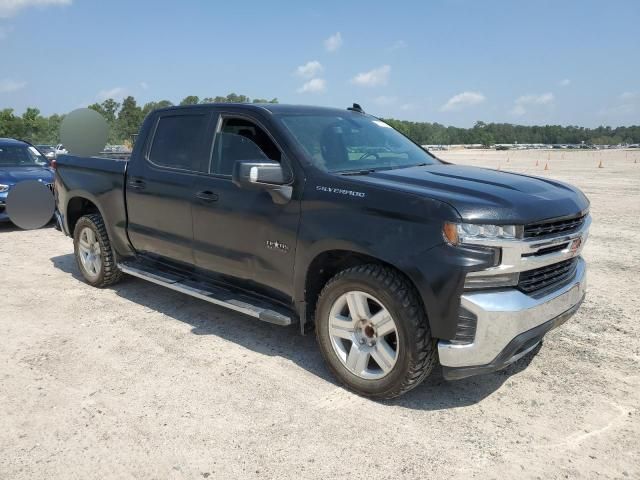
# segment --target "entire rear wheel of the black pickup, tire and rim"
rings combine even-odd
[[[85,215],[78,220],[73,231],[73,246],[78,268],[90,285],[106,287],[122,278],[99,214]]]

